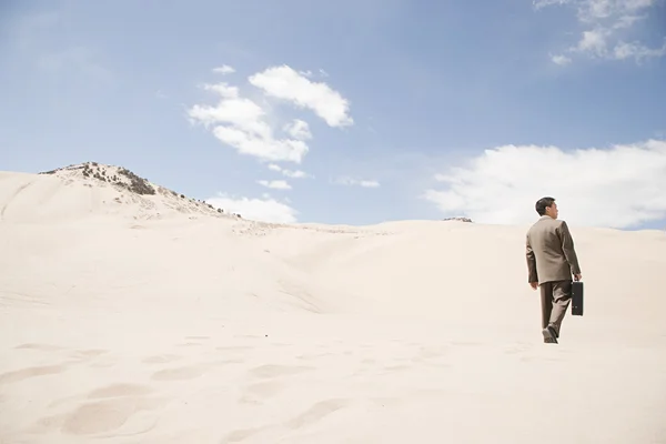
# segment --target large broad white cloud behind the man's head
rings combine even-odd
[[[423,198],[445,216],[481,223],[531,223],[534,203],[551,195],[562,219],[581,225],[632,228],[666,218],[666,141],[563,151],[505,145],[436,179]]]

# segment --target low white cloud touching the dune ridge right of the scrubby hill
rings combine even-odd
[[[221,208],[225,213],[236,213],[243,219],[273,222],[295,223],[299,212],[290,205],[264,195],[263,199],[232,198],[220,193],[214,198],[206,199],[206,203]]]

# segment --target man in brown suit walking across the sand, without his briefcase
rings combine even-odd
[[[527,231],[528,282],[534,290],[541,286],[544,342],[556,344],[572,299],[572,274],[579,281],[581,266],[568,226],[557,220],[555,199],[539,199],[535,209],[541,218]]]

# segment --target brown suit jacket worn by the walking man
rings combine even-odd
[[[581,274],[566,222],[543,215],[527,231],[527,282],[568,281]]]

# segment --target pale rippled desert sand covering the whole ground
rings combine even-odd
[[[585,314],[544,344],[527,225],[121,182],[0,172],[2,444],[666,443],[665,232],[572,225]]]

